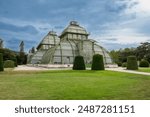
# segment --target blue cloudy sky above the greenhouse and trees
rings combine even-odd
[[[25,51],[51,30],[58,35],[77,21],[107,50],[150,42],[150,0],[0,0],[4,47]]]

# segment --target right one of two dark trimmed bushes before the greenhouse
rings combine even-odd
[[[100,54],[95,54],[92,60],[92,70],[104,70],[103,56]]]

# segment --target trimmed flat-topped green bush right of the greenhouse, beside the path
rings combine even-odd
[[[138,70],[137,59],[135,56],[128,56],[127,69],[128,70]]]

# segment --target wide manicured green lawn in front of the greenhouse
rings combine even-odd
[[[0,99],[150,99],[150,76],[114,71],[0,72]]]

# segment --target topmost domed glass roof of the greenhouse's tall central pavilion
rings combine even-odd
[[[71,21],[69,26],[62,32],[61,36],[63,36],[66,33],[89,35],[85,28],[81,27],[76,21]]]

